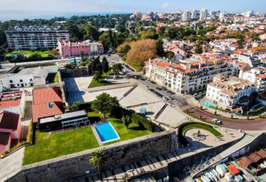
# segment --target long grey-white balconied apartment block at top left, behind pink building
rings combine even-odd
[[[13,50],[51,49],[57,47],[58,40],[69,41],[69,31],[64,27],[10,27],[5,31],[9,48]]]

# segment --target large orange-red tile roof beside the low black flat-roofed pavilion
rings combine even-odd
[[[33,90],[34,104],[32,105],[32,120],[38,122],[38,118],[55,116],[64,113],[61,90],[59,87],[48,87]],[[52,108],[48,103],[53,103]]]

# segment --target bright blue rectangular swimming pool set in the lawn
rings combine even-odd
[[[94,126],[97,133],[99,134],[102,143],[120,139],[116,130],[113,128],[113,125],[110,122],[101,123]]]

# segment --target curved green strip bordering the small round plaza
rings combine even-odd
[[[187,122],[187,123],[182,123],[181,125],[178,126],[178,128],[179,128],[179,140],[181,141],[181,144],[183,144],[183,146],[188,146],[189,144],[188,141],[186,140],[186,137],[184,137],[186,130],[189,129],[198,128],[211,132],[211,134],[214,134],[215,137],[222,136],[222,134],[217,130],[215,130],[214,127],[212,127],[211,125],[207,125],[205,123]]]

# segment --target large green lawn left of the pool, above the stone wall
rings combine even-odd
[[[39,132],[36,128],[36,144],[26,146],[23,165],[97,147],[99,144],[90,127],[55,134]]]

